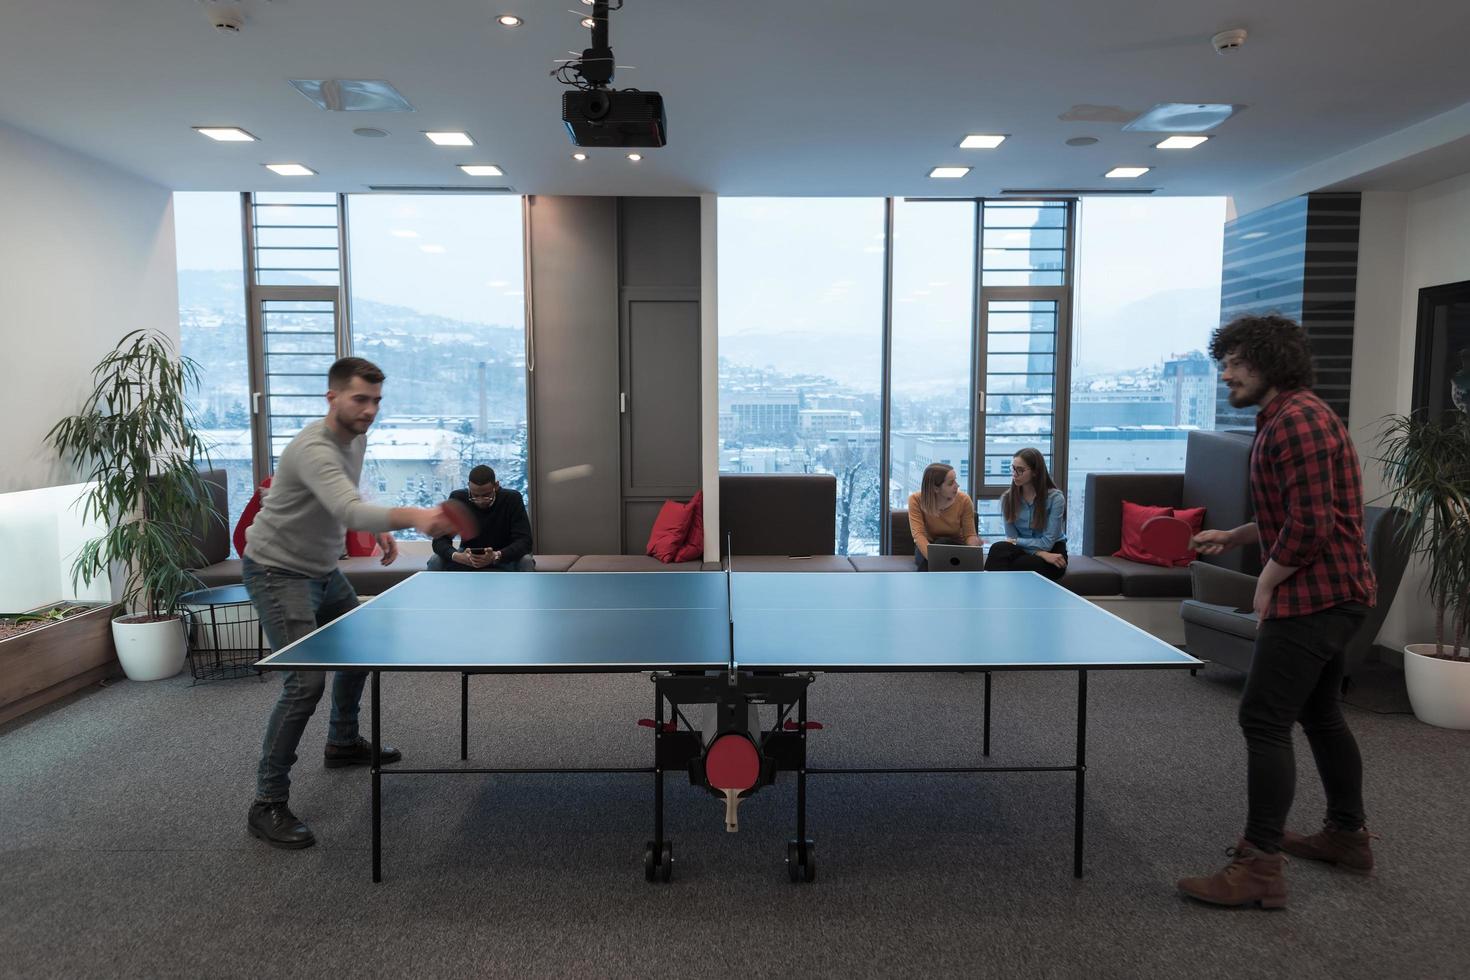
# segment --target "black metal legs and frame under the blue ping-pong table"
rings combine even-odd
[[[1189,664],[1179,664],[1179,669],[1189,667]],[[1173,666],[1166,664],[1147,664],[1138,667],[1122,667],[1122,666],[1091,666],[1091,667],[1003,667],[1003,666],[986,666],[986,667],[970,667],[967,671],[983,673],[985,674],[985,708],[983,708],[983,741],[982,754],[989,757],[991,754],[991,673],[1001,670],[1075,670],[1078,674],[1078,698],[1076,698],[1076,755],[1070,765],[950,765],[950,767],[808,767],[806,764],[806,736],[807,736],[807,693],[803,689],[801,696],[795,702],[797,710],[797,727],[794,735],[800,739],[800,764],[789,771],[795,773],[797,779],[797,837],[792,842],[797,848],[795,854],[798,858],[806,858],[806,849],[811,843],[806,836],[807,829],[807,813],[806,813],[806,785],[807,776],[839,776],[839,774],[901,774],[901,773],[935,773],[935,774],[978,774],[978,773],[1073,773],[1075,774],[1075,795],[1073,795],[1073,842],[1072,842],[1072,873],[1075,877],[1082,877],[1082,854],[1083,854],[1083,832],[1085,832],[1085,817],[1086,817],[1086,801],[1085,801],[1085,785],[1086,785],[1086,738],[1088,738],[1088,671],[1089,670],[1142,670],[1142,669],[1163,669],[1169,670]],[[931,673],[933,667],[922,673]],[[460,758],[466,760],[469,757],[469,674],[470,673],[544,673],[544,671],[510,671],[510,670],[475,670],[466,671],[460,670]],[[723,671],[720,671],[723,673]],[[764,673],[767,676],[791,676],[798,671],[745,671],[745,673]],[[808,671],[800,671],[811,676]],[[853,669],[822,669],[822,673],[856,673]],[[872,671],[867,671],[872,673]],[[897,673],[885,670],[882,673]],[[906,671],[914,673],[914,671]],[[575,767],[575,768],[542,768],[542,767],[520,767],[520,768],[484,768],[484,767],[434,767],[434,768],[403,768],[394,765],[391,768],[384,768],[381,761],[382,741],[379,732],[381,721],[381,669],[372,669],[372,880],[382,882],[382,776],[425,776],[425,774],[548,774],[548,773],[582,773],[582,774],[604,774],[604,773],[631,773],[631,774],[651,774],[654,777],[654,839],[650,846],[656,849],[657,855],[663,855],[664,846],[669,843],[664,836],[664,815],[663,815],[663,777],[664,767],[659,764],[659,743],[666,736],[664,729],[664,701],[666,695],[657,688],[654,693],[654,760],[656,764],[651,767]],[[654,673],[654,680],[657,682],[659,673]],[[670,701],[670,705],[675,702]],[[676,705],[675,705],[676,707]],[[792,705],[778,705],[778,718],[775,723],[776,729],[782,727],[782,720],[785,713],[791,710]],[[788,771],[788,770],[782,770]],[[791,860],[791,849],[788,849],[788,861]],[[659,876],[662,880],[667,880],[667,871]],[[653,880],[653,877],[650,877]],[[792,871],[792,880],[798,880],[795,871]],[[813,876],[806,876],[804,880],[813,880]]]

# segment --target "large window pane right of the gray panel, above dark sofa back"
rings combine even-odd
[[[881,198],[719,203],[720,472],[836,476],[836,552],[876,554]]]

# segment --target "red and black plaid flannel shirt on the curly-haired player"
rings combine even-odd
[[[1342,419],[1311,391],[1283,391],[1255,416],[1251,502],[1261,561],[1297,567],[1266,619],[1377,601],[1358,454]]]

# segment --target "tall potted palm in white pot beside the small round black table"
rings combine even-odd
[[[93,370],[81,413],[47,433],[91,485],[84,520],[107,533],[88,541],[72,564],[74,582],[119,569],[123,616],[112,621],[118,660],[131,680],[172,677],[187,652],[179,598],[200,588],[196,533],[219,517],[198,463],[207,461],[193,425],[190,389],[198,364],[154,331],[125,335]]]

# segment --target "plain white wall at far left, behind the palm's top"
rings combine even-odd
[[[0,123],[0,492],[75,482],[46,433],[137,328],[178,339],[171,191]]]

